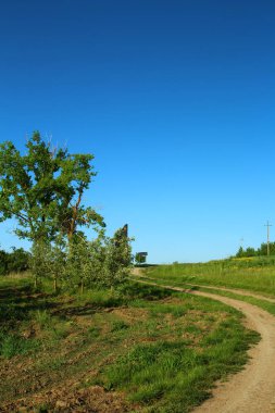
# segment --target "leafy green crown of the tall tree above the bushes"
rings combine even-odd
[[[92,154],[52,149],[38,132],[26,153],[11,141],[0,145],[0,222],[15,217],[15,234],[34,242],[51,241],[62,233],[72,238],[78,226],[104,226],[83,195],[96,176]]]

